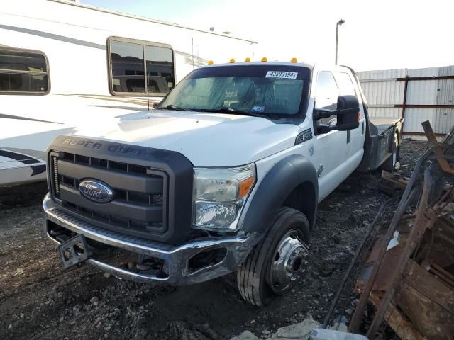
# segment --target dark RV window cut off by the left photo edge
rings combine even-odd
[[[0,94],[48,94],[49,89],[45,55],[0,47]]]

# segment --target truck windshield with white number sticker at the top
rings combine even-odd
[[[294,117],[306,103],[309,74],[306,67],[272,64],[196,69],[159,108]]]

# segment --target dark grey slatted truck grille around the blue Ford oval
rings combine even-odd
[[[136,237],[155,239],[167,232],[168,176],[148,166],[50,153],[49,179],[56,203],[90,223]],[[109,203],[95,203],[79,192],[79,182],[98,180],[114,191]]]

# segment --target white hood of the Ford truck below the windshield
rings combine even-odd
[[[77,135],[180,152],[194,166],[236,166],[292,147],[298,132],[260,117],[153,110],[84,125]]]

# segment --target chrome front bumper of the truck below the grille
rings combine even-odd
[[[258,234],[250,234],[240,237],[195,239],[194,241],[182,244],[181,246],[172,246],[170,244],[153,242],[101,229],[100,227],[79,220],[79,218],[69,215],[67,212],[59,209],[52,201],[49,194],[45,196],[43,200],[43,209],[46,214],[46,232],[48,230],[48,221],[51,221],[71,232],[84,234],[88,239],[94,239],[97,242],[108,244],[109,246],[133,251],[136,254],[143,254],[163,261],[162,271],[167,274],[165,277],[118,268],[109,263],[96,260],[94,257],[87,259],[88,263],[99,267],[101,271],[111,273],[118,278],[138,282],[160,281],[175,285],[188,285],[223,276],[232,271],[236,271],[239,264],[248,256],[250,249],[252,249],[260,239]],[[52,239],[53,242],[61,244],[60,241],[52,237],[49,233],[48,237]],[[200,268],[194,272],[189,272],[189,259],[192,259],[193,256],[199,254],[201,251],[210,249],[226,249],[226,256],[218,263]]]

